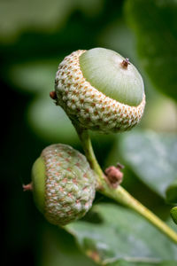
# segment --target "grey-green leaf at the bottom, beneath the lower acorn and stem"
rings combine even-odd
[[[177,246],[140,215],[113,204],[96,205],[93,212],[99,217],[97,223],[78,221],[65,228],[96,262],[154,265],[177,260]]]

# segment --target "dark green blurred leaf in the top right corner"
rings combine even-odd
[[[127,0],[125,15],[135,31],[142,66],[151,82],[177,99],[177,2]]]

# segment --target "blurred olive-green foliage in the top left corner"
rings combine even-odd
[[[102,0],[0,1],[0,41],[12,42],[28,30],[53,33],[65,25],[74,10],[93,16],[102,7]]]

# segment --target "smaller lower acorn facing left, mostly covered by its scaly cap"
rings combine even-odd
[[[50,145],[32,168],[35,204],[53,224],[85,215],[95,198],[96,176],[86,157],[69,145]]]

